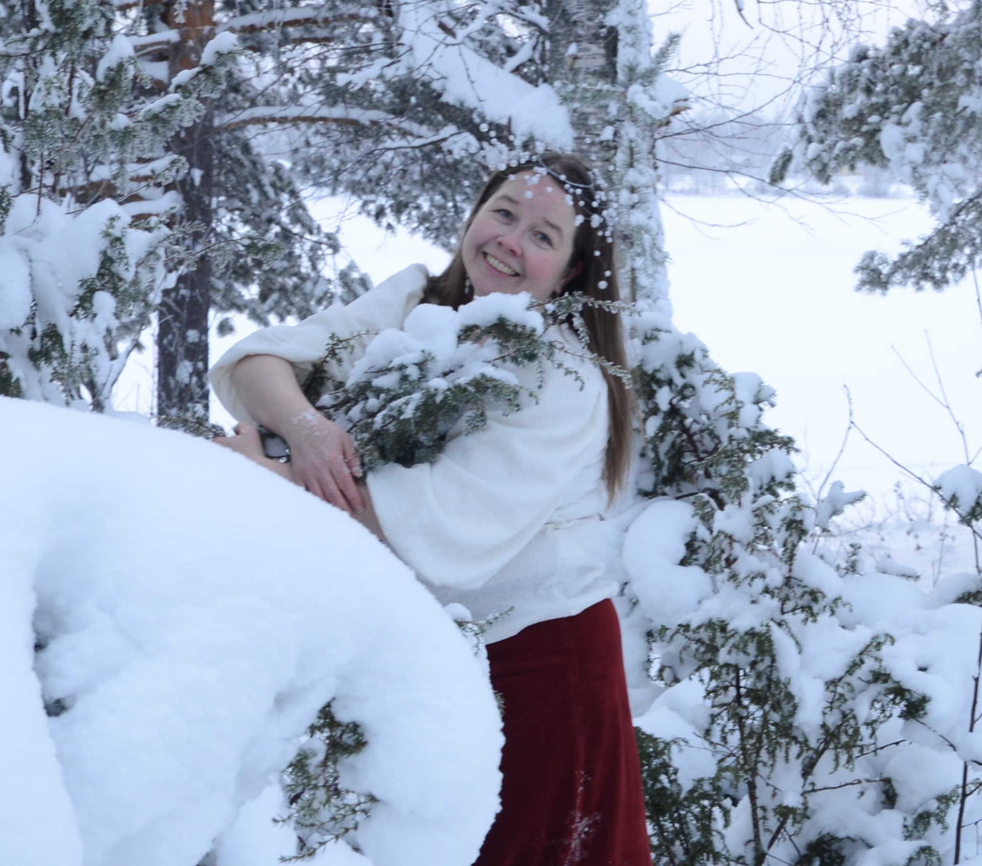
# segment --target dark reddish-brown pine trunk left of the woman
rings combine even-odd
[[[181,34],[169,61],[170,78],[197,66],[201,50],[214,33],[213,0],[191,0],[183,14],[168,4],[164,19]],[[170,142],[170,150],[188,160],[188,174],[175,189],[184,202],[181,220],[191,223],[187,247],[197,252],[211,229],[211,199],[214,182],[212,128],[214,108]],[[208,415],[208,310],[210,307],[211,261],[207,253],[197,255],[175,285],[164,290],[157,331],[157,414]]]

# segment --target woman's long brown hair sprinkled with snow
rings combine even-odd
[[[610,226],[604,225],[601,220],[601,210],[606,202],[602,200],[602,193],[598,193],[590,171],[572,154],[544,153],[532,161],[495,172],[484,185],[484,189],[481,189],[481,194],[477,196],[477,201],[464,223],[462,240],[477,212],[502,184],[522,172],[541,172],[543,169],[560,183],[566,182],[569,185],[567,189],[572,190],[573,209],[582,217],[573,236],[573,253],[568,265],[571,268],[577,264],[581,267],[573,279],[563,287],[560,294],[570,295],[578,292],[599,300],[620,300],[617,268],[614,264],[613,232]],[[456,309],[470,299],[465,290],[466,276],[461,245],[458,244],[457,252],[447,269],[442,274],[429,278],[423,299],[429,303],[440,303]],[[601,307],[584,306],[582,317],[589,335],[587,345],[590,352],[627,370],[621,316]],[[608,370],[602,369],[601,372],[607,382],[610,408],[604,480],[607,483],[608,497],[613,500],[624,485],[630,463],[631,401],[627,385],[621,377]]]

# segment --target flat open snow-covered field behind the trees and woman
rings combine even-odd
[[[735,191],[671,194],[665,202],[678,327],[699,337],[724,368],[757,372],[777,390],[770,423],[794,436],[798,463],[816,488],[846,434],[846,388],[856,422],[911,470],[933,478],[965,461],[948,413],[913,377],[940,393],[931,352],[964,425],[969,456],[982,447],[974,375],[982,367],[982,313],[971,281],[944,293],[904,290],[880,297],[854,291],[852,268],[863,252],[894,252],[930,224],[924,208],[902,189],[898,193],[768,202]],[[406,233],[386,234],[367,219],[345,216],[342,202],[321,200],[314,212],[340,230],[373,282],[412,262],[437,271],[449,258]],[[253,328],[245,321],[238,327],[231,338],[213,339],[213,358]],[[131,361],[118,391],[123,407],[147,410],[152,368],[149,354]],[[212,416],[231,424],[217,402]],[[835,476],[867,490],[881,511],[896,504],[893,488],[904,477],[855,433]]]

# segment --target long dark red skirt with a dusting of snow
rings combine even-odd
[[[474,866],[650,866],[613,603],[530,625],[488,656],[504,781]]]

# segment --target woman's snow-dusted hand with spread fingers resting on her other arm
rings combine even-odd
[[[282,432],[290,445],[294,480],[342,511],[360,514],[364,500],[356,482],[361,462],[352,437],[312,408],[292,418]]]

